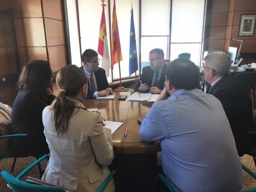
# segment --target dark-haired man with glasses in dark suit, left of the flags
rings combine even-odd
[[[108,84],[105,70],[98,67],[100,59],[98,53],[92,49],[86,49],[82,54],[83,66],[81,69],[88,77],[88,93],[86,98],[108,96],[113,90]]]

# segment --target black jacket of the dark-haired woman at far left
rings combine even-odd
[[[42,111],[55,96],[46,96],[38,90],[20,90],[15,98],[11,134],[28,134],[10,139],[11,154],[15,157],[35,156],[50,153],[43,134]]]

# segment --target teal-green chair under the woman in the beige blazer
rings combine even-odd
[[[24,174],[29,172],[33,167],[35,167],[39,162],[41,162],[46,157],[49,157],[47,154],[40,157],[38,160],[36,160],[34,163],[32,163],[30,166],[28,166],[24,171],[22,171],[17,177],[14,177],[12,174],[2,171],[1,175],[5,179],[5,181],[8,183],[8,187],[12,189],[13,192],[65,192],[65,190],[61,189],[56,185],[56,187],[53,187],[54,185],[51,184],[51,186],[44,186],[44,185],[38,185],[38,184],[32,184],[32,183],[26,183],[20,180]],[[101,184],[97,192],[103,192],[103,190],[106,188],[109,181],[114,177],[116,171],[112,171],[109,176],[105,179],[105,181]],[[76,192],[76,190],[74,190]]]

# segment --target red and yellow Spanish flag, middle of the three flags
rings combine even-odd
[[[111,66],[112,66],[112,69],[114,67],[114,64],[118,63],[118,60],[121,61],[122,59],[123,58],[122,58],[119,32],[118,32],[116,1],[114,0],[113,17],[112,17],[112,37],[111,37]]]

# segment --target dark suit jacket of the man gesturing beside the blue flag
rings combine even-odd
[[[161,77],[159,79],[159,85],[158,85],[158,88],[161,89],[161,90],[163,90],[163,88],[164,88],[166,68],[167,68],[167,65],[164,64],[162,74],[161,74]],[[142,74],[140,76],[140,80],[143,83],[146,83],[149,87],[151,87],[151,84],[152,84],[154,71],[155,70],[152,70],[150,66],[143,67],[143,69],[142,69]],[[138,82],[138,85],[134,88],[134,91],[138,92],[139,86],[140,86],[140,83]]]

